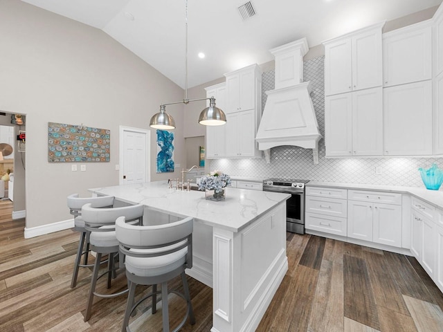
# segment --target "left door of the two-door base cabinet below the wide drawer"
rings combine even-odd
[[[372,241],[372,203],[347,202],[347,237]]]

